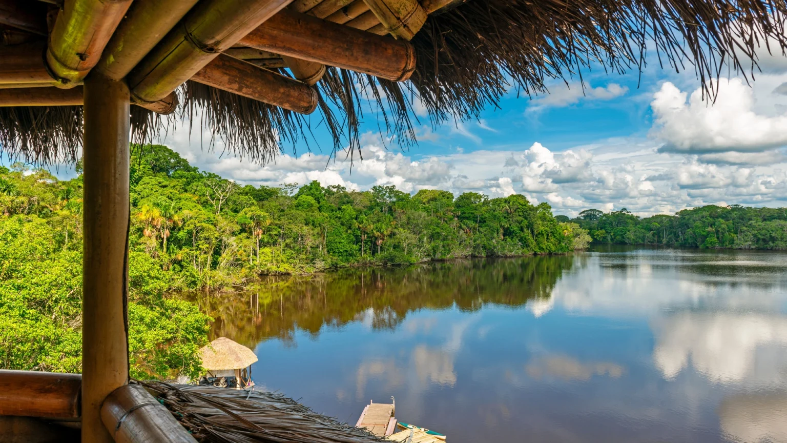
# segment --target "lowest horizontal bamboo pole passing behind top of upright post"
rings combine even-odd
[[[7,106],[82,106],[83,87],[61,89],[54,84],[0,84],[0,107]],[[172,92],[153,103],[133,103],[157,114],[172,114],[178,107],[178,96]]]

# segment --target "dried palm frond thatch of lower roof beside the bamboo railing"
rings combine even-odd
[[[369,443],[379,437],[278,393],[139,382],[201,443]]]

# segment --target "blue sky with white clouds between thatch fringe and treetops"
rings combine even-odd
[[[414,103],[419,144],[401,150],[366,114],[362,149],[352,171],[342,154],[329,162],[327,136],[319,151],[297,147],[275,163],[257,165],[205,151],[183,123],[159,143],[201,169],[242,184],[342,184],[364,190],[395,184],[406,192],[441,188],[459,195],[521,193],[556,214],[588,208],[672,214],[704,204],[787,206],[787,59],[759,54],[762,73],[747,84],[720,80],[719,98],[701,100],[693,71],[651,63],[623,75],[593,69],[578,79],[548,83],[549,94],[511,91],[478,121],[449,122],[434,131]],[[385,139],[384,139],[385,138]],[[385,140],[383,142],[383,140]],[[68,175],[62,172],[61,175]]]

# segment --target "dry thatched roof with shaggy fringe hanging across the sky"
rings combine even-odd
[[[426,9],[427,3],[435,2],[440,0],[420,0]],[[296,0],[290,8],[316,14],[321,6],[346,9],[354,4]],[[380,128],[396,135],[400,145],[408,146],[416,142],[411,112],[415,100],[427,107],[433,126],[454,118],[474,119],[485,107],[496,106],[512,87],[525,95],[545,94],[548,80],[581,79],[593,64],[609,73],[643,69],[648,50],[657,53],[665,69],[693,69],[712,97],[715,91],[708,80],[728,72],[749,76],[756,72],[760,47],[775,54],[783,54],[787,47],[785,0],[467,0],[442,4],[449,6],[429,11],[423,27],[412,37],[416,68],[408,81],[328,68],[314,86],[320,92],[316,118],[187,82],[177,91],[179,110],[170,117],[132,106],[135,141],[150,140],[171,130],[176,120],[190,118],[192,127],[201,126],[220,137],[228,150],[267,162],[298,140],[313,140],[311,129],[325,125],[333,139],[327,148],[349,146],[352,153],[358,147],[359,125],[366,112],[379,118]],[[339,12],[318,17],[333,20]],[[371,25],[368,32],[379,33],[379,20],[365,21],[364,28]],[[247,61],[293,76],[288,69],[275,67],[281,60]],[[81,143],[81,125],[79,106],[0,108],[0,151],[44,165],[73,162]],[[211,140],[205,141],[210,147]]]

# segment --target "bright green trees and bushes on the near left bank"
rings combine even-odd
[[[210,318],[172,292],[332,267],[560,254],[590,241],[522,195],[241,186],[167,147],[134,151],[128,323],[137,378],[198,374]],[[81,175],[0,167],[0,367],[81,370],[81,212]]]

